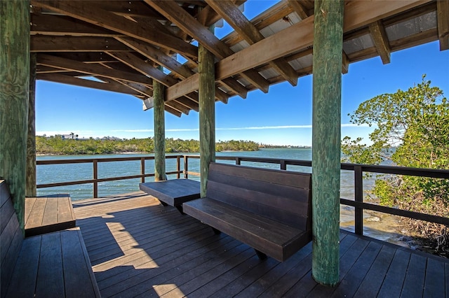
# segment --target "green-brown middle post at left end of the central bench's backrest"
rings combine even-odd
[[[215,61],[202,45],[199,60],[199,145],[201,197],[206,197],[210,162],[215,162]]]

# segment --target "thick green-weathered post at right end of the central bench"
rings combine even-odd
[[[340,121],[344,1],[315,1],[312,120],[312,276],[339,281]]]

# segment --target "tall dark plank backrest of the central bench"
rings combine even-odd
[[[311,174],[211,163],[206,196],[311,230]]]

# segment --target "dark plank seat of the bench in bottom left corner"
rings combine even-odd
[[[79,227],[25,239],[6,297],[101,297]]]

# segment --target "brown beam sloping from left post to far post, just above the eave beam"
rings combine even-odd
[[[80,73],[87,73],[92,76],[104,76],[106,78],[118,78],[126,80],[127,82],[140,83],[144,85],[152,85],[151,78],[142,76],[138,73],[129,73],[126,71],[118,71],[116,69],[107,69],[100,65],[86,64],[83,62],[74,61],[71,59],[56,57],[46,54],[37,55],[37,64],[56,67],[59,69],[67,69],[69,71],[78,71]]]

